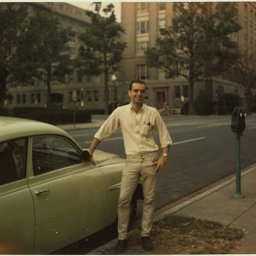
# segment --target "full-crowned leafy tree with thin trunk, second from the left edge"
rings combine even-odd
[[[35,79],[47,84],[47,106],[50,108],[51,81],[64,82],[72,72],[67,42],[72,35],[70,28],[59,26],[58,18],[37,11],[27,19],[19,38],[16,52],[10,59],[11,81],[32,84]]]

